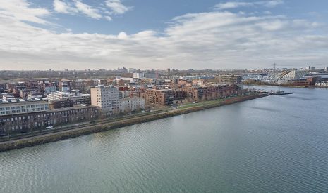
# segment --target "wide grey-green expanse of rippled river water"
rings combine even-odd
[[[282,89],[0,153],[1,192],[328,192],[328,89]]]

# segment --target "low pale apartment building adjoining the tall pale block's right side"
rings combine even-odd
[[[119,102],[120,112],[131,112],[138,109],[145,109],[145,98],[140,98],[140,97],[123,98]]]

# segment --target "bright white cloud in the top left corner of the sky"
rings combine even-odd
[[[47,24],[49,22],[43,18],[50,15],[50,12],[47,8],[32,8],[28,1],[25,0],[11,0],[10,2],[1,2],[0,15],[20,21]]]

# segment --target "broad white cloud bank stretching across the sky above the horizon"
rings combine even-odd
[[[57,33],[3,13],[0,23],[1,69],[244,69],[328,60],[325,26],[284,15],[188,13],[163,32],[115,35]]]

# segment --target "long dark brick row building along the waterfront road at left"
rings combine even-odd
[[[92,106],[77,106],[40,112],[6,114],[0,116],[0,133],[20,133],[47,126],[78,123],[97,119],[98,109]]]

